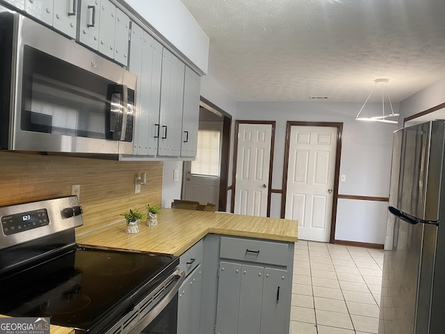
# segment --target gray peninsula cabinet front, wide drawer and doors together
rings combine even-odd
[[[288,334],[293,244],[220,237],[216,333]]]

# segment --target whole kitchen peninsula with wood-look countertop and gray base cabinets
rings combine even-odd
[[[162,209],[159,225],[82,232],[78,244],[179,256],[178,333],[289,333],[298,222]],[[191,321],[191,319],[193,319]],[[216,331],[216,332],[214,332]]]

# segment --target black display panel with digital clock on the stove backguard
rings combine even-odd
[[[5,235],[11,235],[33,228],[48,225],[49,218],[47,209],[38,209],[19,214],[10,214],[1,217],[1,228]]]

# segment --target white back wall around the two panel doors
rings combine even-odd
[[[275,152],[272,188],[282,189],[286,121],[343,122],[339,194],[387,197],[391,167],[392,133],[397,125],[355,120],[360,103],[341,102],[238,102],[238,120],[275,120]],[[393,105],[394,112],[398,104]],[[376,113],[381,104],[372,104]],[[386,230],[386,207],[376,202],[342,200],[337,207],[335,239],[383,244]],[[382,202],[385,203],[385,202]],[[346,205],[343,205],[346,204]],[[280,216],[281,195],[273,194],[270,215]],[[366,219],[359,219],[362,212]],[[357,230],[360,230],[357,234]]]

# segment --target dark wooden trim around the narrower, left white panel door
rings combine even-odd
[[[234,212],[235,209],[235,194],[236,194],[236,163],[238,158],[238,130],[240,124],[264,124],[264,125],[272,125],[272,134],[270,137],[270,161],[269,161],[269,180],[267,187],[267,216],[270,217],[270,196],[272,186],[272,172],[273,172],[273,154],[275,150],[275,120],[235,120],[235,142],[234,142],[234,168],[232,170],[232,204],[231,204],[231,212]]]

